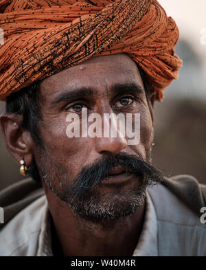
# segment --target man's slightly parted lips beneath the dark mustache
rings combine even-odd
[[[133,179],[134,173],[129,168],[117,166],[108,172],[108,175],[102,179],[102,183],[122,183]]]

